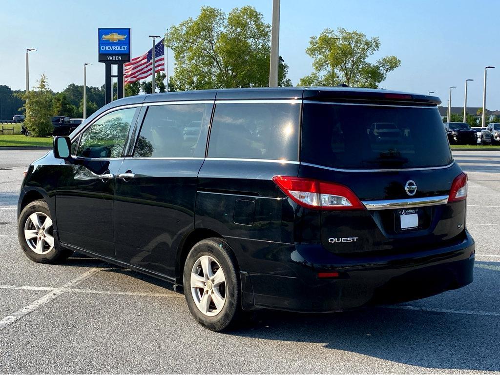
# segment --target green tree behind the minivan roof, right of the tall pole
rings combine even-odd
[[[314,71],[300,79],[300,86],[349,86],[377,88],[387,73],[401,61],[385,56],[374,63],[367,59],[380,49],[378,37],[368,39],[358,31],[338,27],[326,28],[319,36],[311,36],[305,52],[313,58]]]

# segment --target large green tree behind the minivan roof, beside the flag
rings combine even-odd
[[[270,25],[252,6],[228,14],[203,6],[195,19],[172,26],[165,45],[174,54],[172,81],[179,90],[262,87],[269,77]],[[278,84],[289,84],[279,63]]]

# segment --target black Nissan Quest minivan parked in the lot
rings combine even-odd
[[[213,331],[460,288],[467,176],[439,103],[349,87],[116,100],[29,166],[19,242],[35,262],[76,251],[168,280]]]

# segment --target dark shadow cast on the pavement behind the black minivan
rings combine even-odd
[[[474,270],[480,279],[498,280],[498,263],[477,263],[483,266]],[[439,298],[445,301],[444,309],[463,311],[463,306],[468,306],[466,310],[478,309],[474,300],[484,303],[497,295],[490,290],[488,293],[488,288],[477,289],[478,294],[464,294],[463,300],[459,290],[447,292],[455,294],[451,299],[445,299],[445,295]],[[438,297],[433,298],[432,307]],[[462,307],[456,307],[453,299],[463,302],[459,305]],[[406,305],[425,307],[425,301]],[[497,301],[491,305],[491,312],[498,314]],[[500,316],[413,311],[397,306],[331,314],[262,310],[254,314],[252,323],[230,334],[318,343],[327,349],[430,369],[500,371]]]

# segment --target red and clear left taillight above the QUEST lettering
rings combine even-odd
[[[272,181],[295,203],[316,210],[362,210],[348,187],[300,177],[274,176]]]

